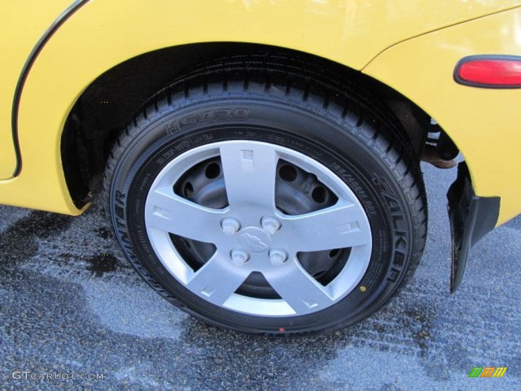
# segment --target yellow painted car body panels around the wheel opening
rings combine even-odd
[[[105,71],[143,53],[243,42],[317,55],[406,96],[463,152],[476,195],[501,198],[497,224],[502,224],[521,212],[521,90],[467,87],[455,83],[452,72],[468,55],[521,55],[520,5],[514,0],[56,0],[45,7],[29,0],[4,2],[0,203],[80,214],[85,206],[71,199],[60,140],[83,91]],[[114,103],[106,102],[99,105]]]

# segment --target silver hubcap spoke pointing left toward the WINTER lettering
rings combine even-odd
[[[185,200],[170,187],[148,194],[146,224],[185,238],[213,243],[226,209],[211,209]]]

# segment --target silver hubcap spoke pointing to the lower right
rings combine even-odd
[[[328,289],[320,285],[295,258],[288,261],[276,276],[266,276],[271,287],[297,314],[314,312],[329,307],[333,300]]]

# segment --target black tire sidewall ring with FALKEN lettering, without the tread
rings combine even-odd
[[[372,140],[378,124],[355,126],[316,107],[235,97],[190,102],[138,124],[111,178],[109,209],[123,251],[162,296],[205,321],[246,332],[307,332],[363,319],[392,295],[407,270],[414,243],[410,204]],[[358,286],[333,306],[302,316],[272,318],[217,307],[182,286],[154,253],[146,234],[144,204],[168,162],[197,146],[225,140],[285,146],[314,158],[356,194],[373,236],[368,269]],[[365,287],[365,290],[360,289]]]

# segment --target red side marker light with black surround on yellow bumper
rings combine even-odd
[[[468,56],[454,69],[456,82],[481,88],[521,88],[521,56]]]

